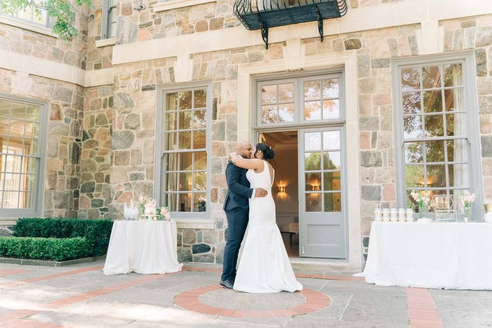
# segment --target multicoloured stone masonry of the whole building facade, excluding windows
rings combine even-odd
[[[396,2],[400,1],[347,1],[351,8]],[[118,1],[116,44],[191,33],[205,36],[207,31],[239,26],[232,13],[233,3],[217,1],[155,12],[156,1]],[[68,64],[87,71],[112,68],[114,72],[114,84],[88,88],[29,75],[24,81],[28,88],[23,89],[16,72],[0,69],[0,92],[50,102],[50,134],[56,138],[48,142],[46,216],[121,218],[125,202],[139,195],[153,196],[156,92],[158,86],[177,80],[177,58],[113,66],[112,46],[95,45],[100,39],[102,1],[95,1],[94,6],[87,14],[87,24],[81,25],[80,39],[68,45],[0,25],[0,48],[9,44],[12,51],[36,55],[39,43],[50,50],[42,51],[50,60],[65,62],[65,57],[76,52],[76,60],[67,59]],[[443,20],[439,25],[444,31],[444,52],[475,52],[484,198],[492,199],[492,15]],[[348,51],[357,55],[361,199],[351,201],[360,201],[364,248],[374,208],[396,206],[391,60],[422,55],[420,32],[420,24],[411,24],[327,35],[323,42],[319,37],[301,40],[306,58]],[[35,36],[26,39],[23,33]],[[54,44],[45,45],[47,38]],[[221,210],[227,191],[224,168],[238,138],[238,66],[282,59],[285,46],[279,42],[271,43],[268,50],[258,45],[190,55],[191,79],[212,81],[212,121],[208,122],[212,156],[208,163],[212,174],[209,211],[215,229],[178,229],[181,261],[222,262],[227,236],[227,220]],[[61,59],[53,55],[58,48],[64,51],[56,57]]]

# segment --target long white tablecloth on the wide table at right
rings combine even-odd
[[[492,224],[373,222],[368,283],[492,290]]]

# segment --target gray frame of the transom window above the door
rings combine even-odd
[[[305,120],[304,119],[304,81],[313,79],[329,79],[338,78],[339,87],[339,117],[331,119],[318,119],[318,120]],[[261,87],[272,84],[285,84],[294,83],[294,121],[293,122],[276,122],[276,123],[262,123],[261,122]],[[278,128],[285,126],[302,126],[306,125],[327,125],[327,124],[340,124],[345,122],[345,81],[343,70],[336,70],[334,72],[326,71],[314,71],[296,76],[275,74],[271,76],[257,77],[253,80],[255,92],[253,93],[252,104],[255,106],[253,116],[253,128],[265,129],[265,128]]]

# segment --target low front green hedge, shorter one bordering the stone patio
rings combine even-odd
[[[91,253],[91,242],[80,237],[0,237],[0,257],[67,261],[88,257]]]

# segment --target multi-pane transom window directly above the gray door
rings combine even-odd
[[[259,81],[257,125],[343,120],[341,74]]]

